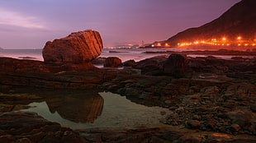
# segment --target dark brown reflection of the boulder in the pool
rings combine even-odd
[[[104,100],[100,95],[90,95],[83,98],[64,96],[59,99],[46,99],[51,113],[59,115],[72,122],[94,122],[102,114]]]

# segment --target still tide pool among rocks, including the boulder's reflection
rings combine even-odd
[[[51,122],[59,122],[62,126],[73,129],[159,124],[159,119],[164,118],[161,112],[168,113],[167,108],[135,104],[126,97],[111,92],[89,96],[62,96],[29,105],[31,108],[21,111],[38,113]]]

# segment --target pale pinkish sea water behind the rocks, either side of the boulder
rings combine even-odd
[[[133,59],[135,62],[143,60],[145,58],[152,58],[159,55],[168,55],[164,52],[181,52],[187,49],[181,48],[103,48],[99,57],[118,57],[122,62]],[[206,57],[209,55],[197,55],[188,54],[188,57]],[[235,56],[230,55],[212,55],[216,58],[230,59]],[[42,57],[42,49],[0,49],[0,57],[19,58],[19,59],[31,59],[44,61]],[[243,58],[252,58],[251,56],[242,56]]]

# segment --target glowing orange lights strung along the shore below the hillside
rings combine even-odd
[[[235,40],[228,40],[226,37],[220,39],[207,39],[207,40],[196,40],[193,42],[178,43],[179,47],[191,46],[191,45],[212,45],[212,46],[256,46],[256,39],[254,41],[244,40],[241,36],[238,36]],[[168,43],[165,44],[152,44],[151,47],[169,47]]]

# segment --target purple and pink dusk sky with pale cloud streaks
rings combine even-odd
[[[153,43],[210,22],[240,0],[1,0],[0,47],[44,48],[78,30],[105,47]]]

